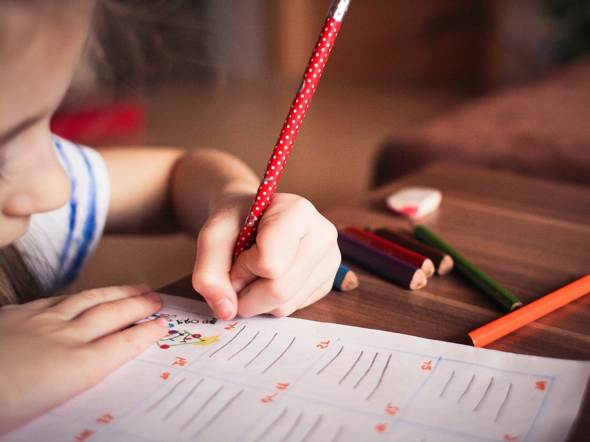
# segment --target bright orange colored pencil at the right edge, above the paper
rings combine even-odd
[[[467,334],[474,347],[485,347],[520,327],[590,293],[590,275],[537,299]]]

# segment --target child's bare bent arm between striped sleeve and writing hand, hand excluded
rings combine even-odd
[[[212,204],[258,187],[242,161],[220,151],[130,147],[100,153],[111,181],[110,233],[182,229],[197,235]]]

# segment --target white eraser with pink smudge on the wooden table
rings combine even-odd
[[[387,206],[396,213],[413,219],[421,218],[438,209],[442,194],[428,187],[405,187],[387,197]]]

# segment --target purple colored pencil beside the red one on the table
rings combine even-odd
[[[354,262],[405,289],[415,290],[426,285],[427,279],[422,269],[351,238],[345,233],[338,232],[338,246],[342,256],[350,262]]]

